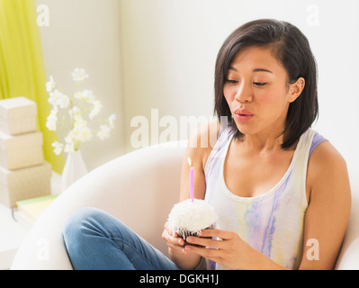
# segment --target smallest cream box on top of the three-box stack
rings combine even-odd
[[[37,105],[25,97],[0,100],[0,130],[17,135],[36,130]]]

